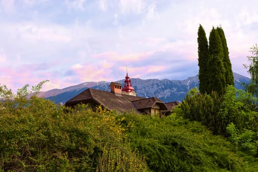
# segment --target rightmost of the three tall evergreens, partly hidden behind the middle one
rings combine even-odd
[[[226,79],[226,84],[227,85],[234,85],[234,76],[233,76],[233,72],[232,72],[232,67],[231,67],[231,62],[229,59],[229,49],[228,49],[228,45],[227,45],[227,40],[224,34],[224,30],[221,27],[217,27],[216,29],[220,35],[220,39],[222,42],[222,46],[223,46],[223,64],[225,67],[225,79]]]

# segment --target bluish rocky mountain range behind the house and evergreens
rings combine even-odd
[[[235,87],[237,89],[242,89],[243,87],[240,83],[249,83],[250,78],[234,74]],[[186,96],[186,93],[194,88],[199,87],[198,76],[189,77],[185,80],[158,80],[158,79],[148,79],[142,80],[139,78],[131,78],[132,85],[137,92],[137,96],[141,97],[157,97],[164,102],[172,101],[182,101]],[[115,81],[123,86],[123,80]],[[110,82],[86,82],[76,86],[69,86],[63,89],[52,89],[46,92],[41,92],[41,96],[46,99],[55,101],[56,103],[65,103],[67,100],[78,95],[87,88],[94,88],[104,91],[110,91]]]

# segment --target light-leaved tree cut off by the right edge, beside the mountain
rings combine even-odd
[[[258,47],[254,45],[250,52],[253,56],[248,56],[249,65],[244,64],[244,67],[248,69],[248,73],[251,76],[251,83],[245,85],[245,89],[258,97]]]

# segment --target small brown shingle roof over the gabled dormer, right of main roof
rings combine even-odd
[[[141,110],[145,108],[153,108],[155,104],[159,104],[160,110],[168,110],[165,103],[156,97],[134,100],[132,101],[132,103],[134,104],[137,110]]]

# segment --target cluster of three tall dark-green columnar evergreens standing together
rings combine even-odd
[[[225,93],[227,85],[234,85],[226,37],[221,27],[213,27],[207,42],[204,29],[198,29],[199,88],[201,93],[219,95]]]

